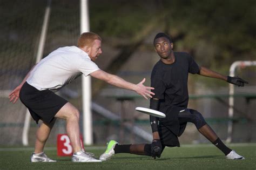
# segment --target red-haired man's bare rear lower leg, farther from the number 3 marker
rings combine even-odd
[[[55,124],[56,119],[52,120],[50,124],[43,122],[36,132],[35,153],[44,151],[44,145],[49,137],[51,129]]]

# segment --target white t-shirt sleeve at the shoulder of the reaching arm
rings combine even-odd
[[[84,76],[88,76],[90,73],[99,70],[99,67],[90,59],[83,59],[80,63],[78,70],[82,72]]]

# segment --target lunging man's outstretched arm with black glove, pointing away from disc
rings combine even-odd
[[[239,77],[224,76],[223,74],[220,74],[213,70],[207,69],[206,67],[203,67],[203,66],[199,67],[198,74],[200,74],[201,76],[221,79],[221,80],[227,81],[228,83],[231,83],[231,84],[234,84],[237,86],[244,86],[245,83],[248,84],[247,81],[245,81]]]

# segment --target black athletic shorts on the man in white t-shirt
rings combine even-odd
[[[60,108],[68,103],[68,101],[52,91],[39,91],[26,82],[22,86],[21,92],[19,92],[19,98],[29,109],[32,118],[37,124],[39,119],[45,123],[51,123]]]

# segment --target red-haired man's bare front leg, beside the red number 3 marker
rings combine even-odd
[[[80,130],[79,130],[79,111],[70,103],[66,103],[55,115],[56,118],[66,120],[66,131],[68,133],[73,152],[81,151]]]

